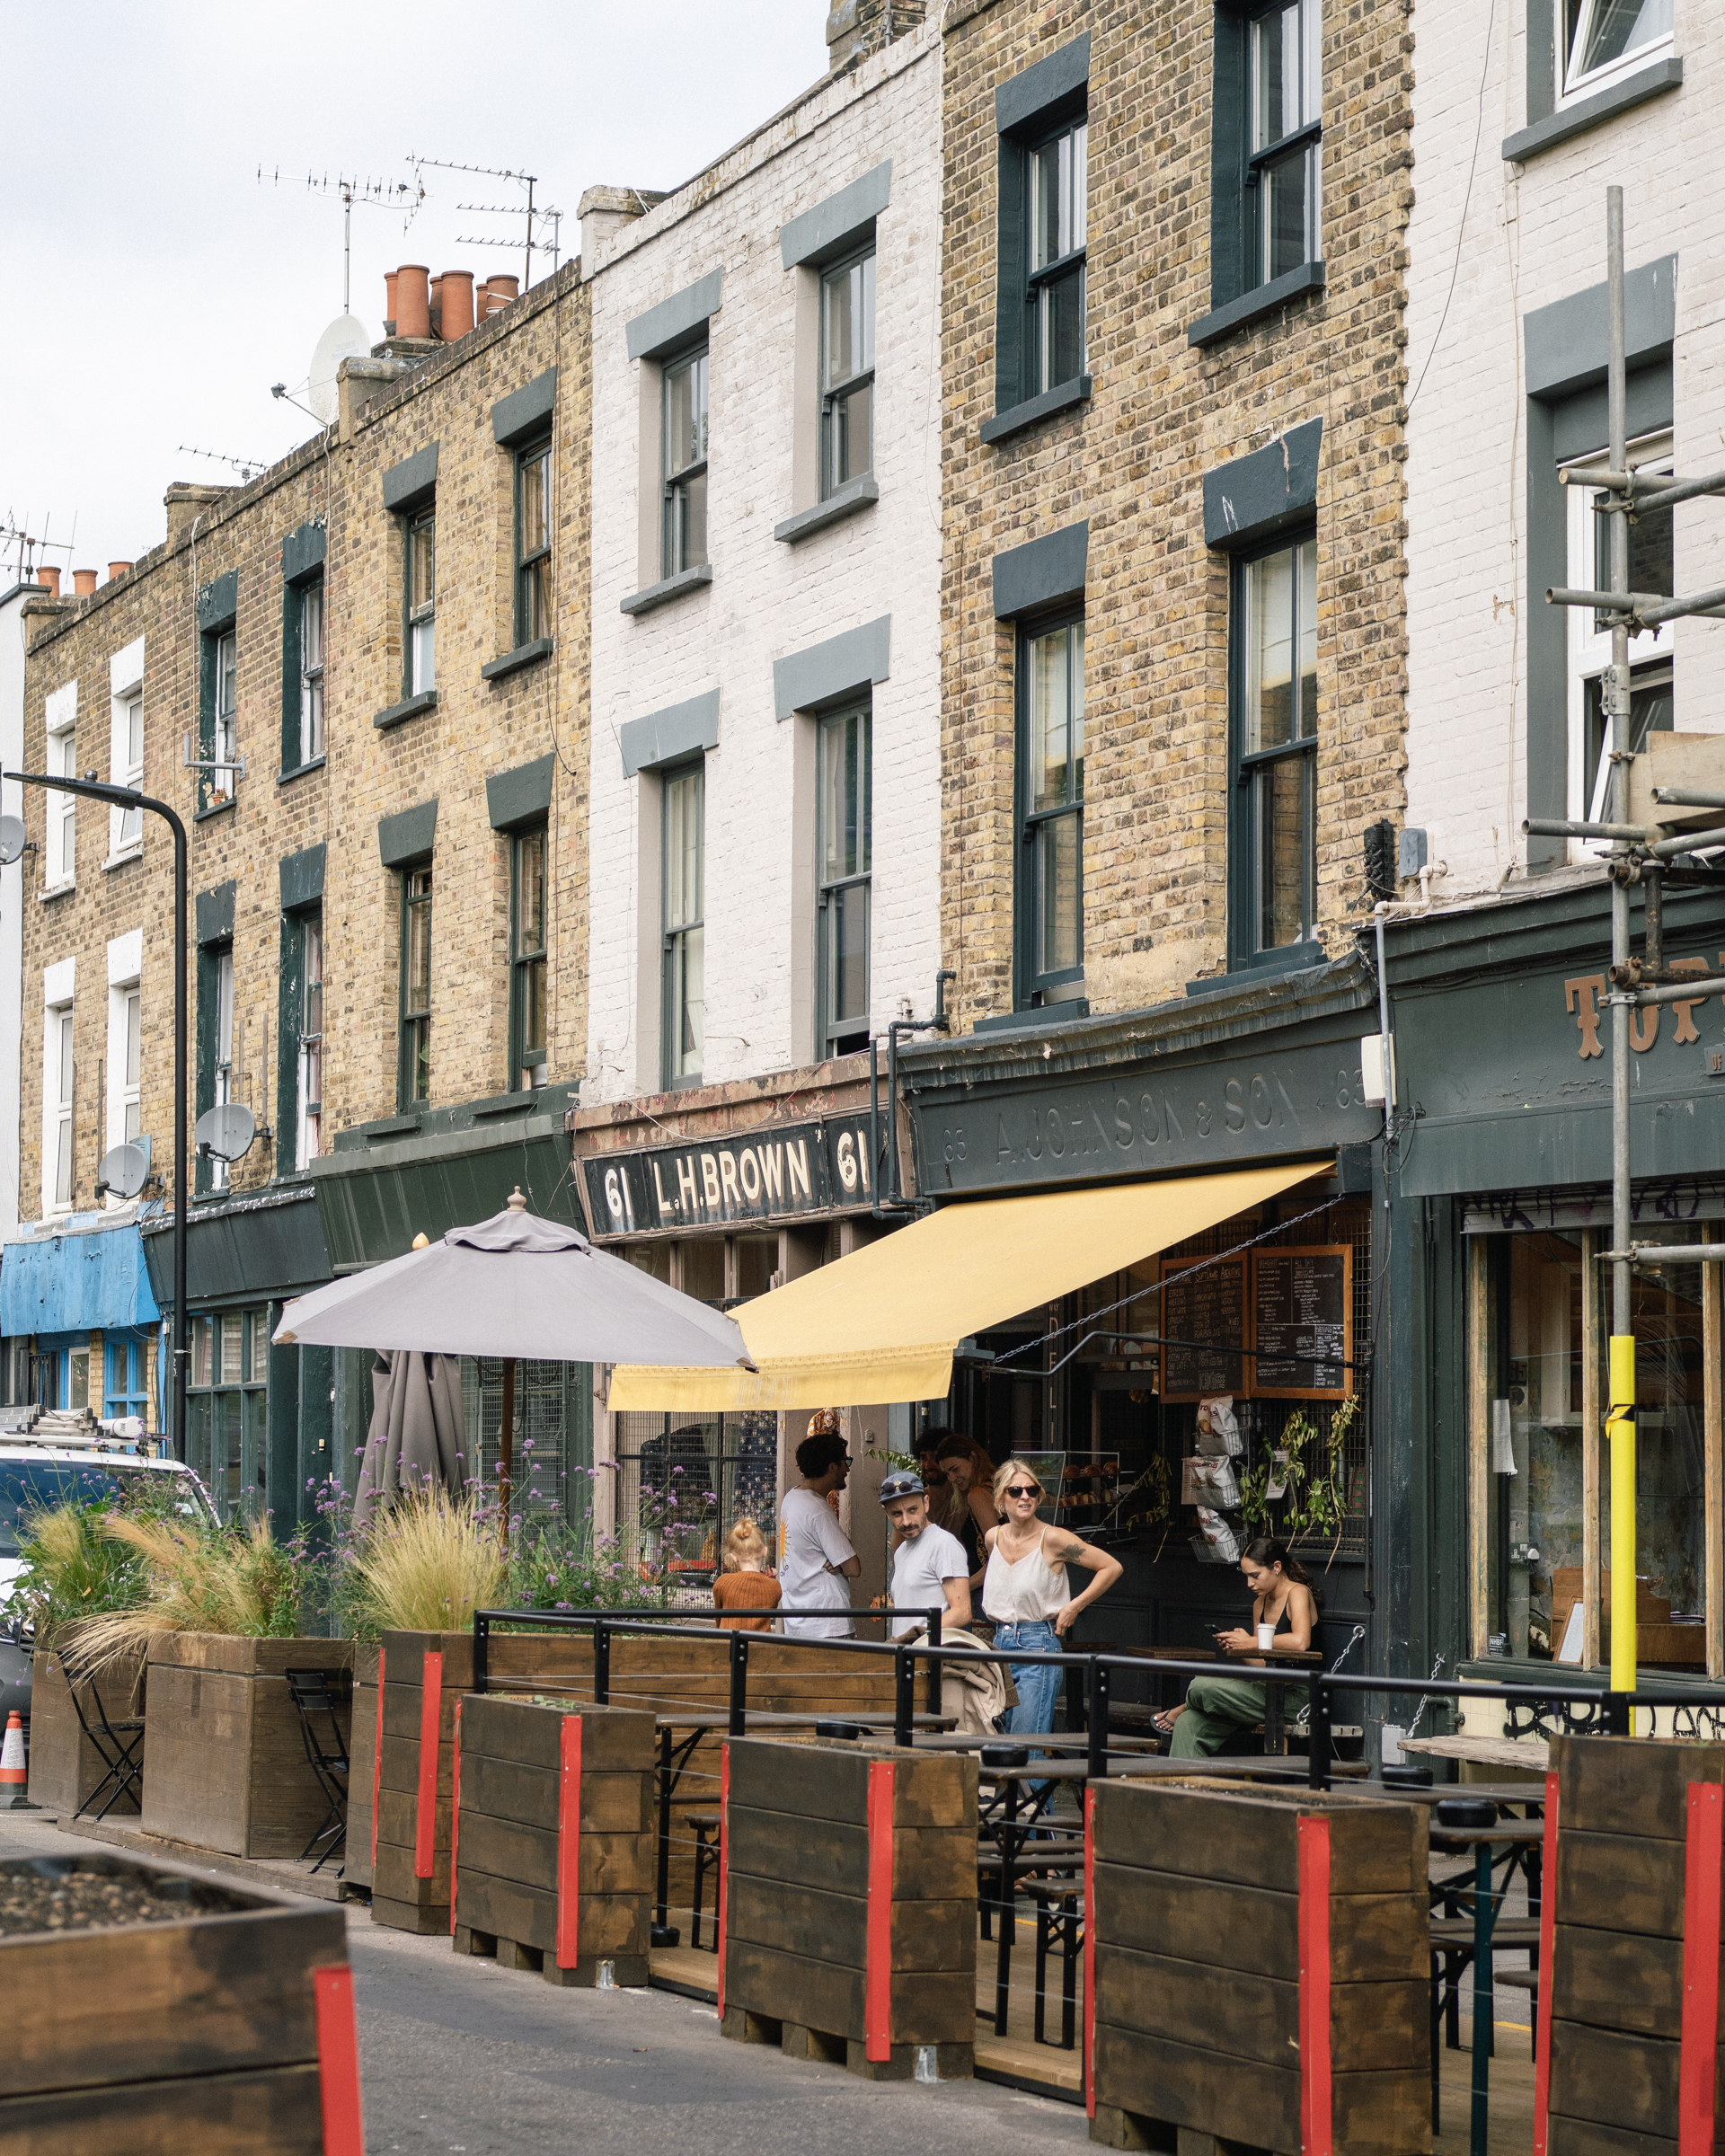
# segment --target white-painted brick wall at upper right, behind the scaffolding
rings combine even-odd
[[[1725,15],[1675,0],[1682,88],[1514,166],[1501,142],[1527,119],[1531,4],[1542,0],[1425,0],[1412,13],[1406,819],[1449,865],[1434,897],[1488,888],[1527,858],[1520,321],[1604,280],[1606,185],[1624,188],[1630,270],[1678,254],[1678,472],[1725,466]],[[1725,584],[1725,507],[1680,507],[1675,530],[1678,589]],[[1725,731],[1725,625],[1680,623],[1675,666],[1678,727]]]

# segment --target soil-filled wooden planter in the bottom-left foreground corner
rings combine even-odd
[[[106,1852],[0,1863],[0,1902],[43,1865],[147,1880],[185,1915],[0,1936],[0,2147],[321,2156],[313,1968],[347,1960],[341,1908]]]

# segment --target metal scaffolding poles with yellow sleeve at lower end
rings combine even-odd
[[[1658,1257],[1695,1263],[1723,1263],[1725,1244],[1693,1244],[1673,1250],[1660,1244],[1637,1244],[1630,1205],[1630,1028],[1634,1013],[1647,1005],[1680,1003],[1725,992],[1725,977],[1697,975],[1665,962],[1665,882],[1725,882],[1714,865],[1693,860],[1697,849],[1725,847],[1725,826],[1671,834],[1662,824],[1630,824],[1630,634],[1658,627],[1684,614],[1719,619],[1725,612],[1725,591],[1703,591],[1693,597],[1630,591],[1630,517],[1669,509],[1675,502],[1725,494],[1725,472],[1706,479],[1641,476],[1628,459],[1628,362],[1624,332],[1624,190],[1606,188],[1606,470],[1563,470],[1565,485],[1598,487],[1606,498],[1600,509],[1611,517],[1611,591],[1572,591],[1552,586],[1552,606],[1585,606],[1611,623],[1611,666],[1604,677],[1604,718],[1611,733],[1611,785],[1604,821],[1561,817],[1529,817],[1524,832],[1563,839],[1596,839],[1611,845],[1611,1248],[1600,1259],[1611,1266],[1611,1348],[1606,1440],[1611,1445],[1611,1690],[1634,1690],[1634,1617],[1637,1617],[1637,1522],[1634,1522],[1634,1266]],[[1660,789],[1662,806],[1725,808],[1721,793],[1684,793]],[[1678,817],[1673,817],[1678,821]],[[1645,955],[1630,955],[1630,890],[1643,893]],[[1596,1294],[1593,1283],[1587,1291]],[[1615,1712],[1613,1727],[1634,1733],[1634,1710],[1626,1703]]]

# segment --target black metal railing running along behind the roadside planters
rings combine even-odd
[[[593,1632],[593,1701],[595,1705],[610,1703],[610,1641],[617,1634],[649,1632],[656,1639],[688,1639],[688,1641],[712,1641],[712,1630],[703,1623],[690,1623],[690,1617],[737,1617],[737,1611],[714,1608],[707,1611],[677,1611],[666,1617],[653,1611],[477,1611],[474,1613],[474,1690],[483,1692],[489,1680],[489,1639],[494,1630],[591,1630]],[[755,1611],[750,1615],[772,1615],[778,1617],[834,1617],[843,1615],[839,1611]],[[1082,1695],[1085,1695],[1085,1770],[1093,1781],[1108,1777],[1108,1690],[1115,1671],[1130,1673],[1136,1677],[1145,1675],[1145,1662],[1134,1656],[1123,1654],[1087,1654],[1082,1649],[1070,1654],[1029,1654],[1013,1651],[1005,1654],[992,1647],[942,1647],[940,1645],[940,1617],[942,1611],[854,1611],[852,1617],[865,1619],[891,1619],[891,1617],[923,1617],[929,1626],[927,1641],[916,1641],[912,1645],[901,1645],[899,1641],[875,1641],[875,1639],[822,1639],[817,1645],[832,1647],[839,1654],[858,1656],[891,1656],[893,1658],[893,1742],[910,1744],[916,1725],[916,1662],[921,1660],[927,1671],[927,1699],[929,1710],[940,1712],[940,1669],[944,1662],[1000,1662],[1000,1664],[1052,1664],[1057,1669],[1082,1671]],[[748,1649],[750,1643],[761,1639],[781,1639],[785,1634],[763,1634],[763,1632],[727,1632],[729,1645],[729,1736],[744,1736],[748,1727]],[[789,1634],[796,1643],[796,1634]],[[1175,1662],[1156,1660],[1154,1673],[1158,1677],[1214,1677],[1218,1664],[1212,1662]],[[1335,1703],[1339,1699],[1365,1699],[1371,1695],[1417,1695],[1423,1699],[1453,1699],[1453,1701],[1527,1701],[1531,1703],[1585,1703],[1589,1708],[1604,1710],[1604,1733],[1606,1736],[1630,1736],[1630,1716],[1634,1708],[1669,1708],[1671,1699],[1667,1692],[1615,1692],[1602,1690],[1600,1686],[1578,1686],[1578,1684],[1462,1684],[1443,1682],[1436,1677],[1343,1677],[1330,1675],[1322,1667],[1311,1669],[1274,1669],[1270,1662],[1264,1667],[1240,1664],[1238,1673],[1246,1673],[1253,1684],[1281,1684],[1289,1688],[1300,1688],[1307,1695],[1307,1787],[1328,1789],[1330,1774],[1335,1766],[1335,1746],[1330,1729],[1335,1723]],[[511,1680],[522,1682],[522,1680]],[[1708,1690],[1684,1692],[1684,1705],[1688,1708],[1725,1708],[1725,1686],[1714,1686]],[[1018,1731],[1020,1738],[1033,1738],[1033,1731]]]

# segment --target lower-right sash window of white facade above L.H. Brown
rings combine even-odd
[[[869,1046],[873,714],[867,703],[815,720],[815,1054]]]

